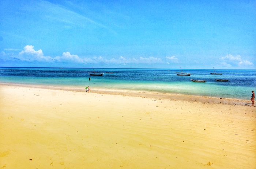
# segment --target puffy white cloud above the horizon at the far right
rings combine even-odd
[[[222,60],[222,65],[227,67],[232,66],[253,66],[252,62],[249,62],[248,60],[242,60],[240,55],[232,56],[232,55],[226,55],[225,57],[220,58]]]

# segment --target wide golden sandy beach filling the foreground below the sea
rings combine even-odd
[[[4,169],[256,168],[249,99],[1,84],[0,107]]]

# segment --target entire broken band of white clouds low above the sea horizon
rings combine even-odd
[[[14,49],[5,49],[7,51],[17,51]],[[165,60],[164,58],[158,58],[154,56],[148,56],[148,57],[141,57],[138,58],[125,58],[124,56],[120,56],[119,58],[111,58],[111,59],[105,59],[102,56],[93,56],[91,58],[89,57],[80,57],[75,54],[71,54],[70,52],[63,52],[61,56],[45,56],[43,51],[40,50],[34,50],[34,46],[27,45],[23,48],[22,51],[19,53],[0,53],[0,59],[1,60],[20,60],[21,62],[46,62],[46,63],[80,63],[80,64],[97,64],[97,63],[104,63],[104,64],[157,64],[157,63],[164,63],[167,64],[171,63],[179,63],[179,59],[176,56],[166,56]],[[219,58],[220,64],[224,67],[231,68],[233,66],[254,66],[254,64],[248,60],[242,59],[240,55],[232,56],[231,54],[227,54],[226,56],[223,56]]]

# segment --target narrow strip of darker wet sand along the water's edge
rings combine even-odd
[[[51,90],[64,90],[64,91],[76,91],[84,92],[85,89],[80,87],[69,86],[47,86],[41,84],[21,84],[21,83],[0,83],[0,86],[21,86],[21,87],[34,87],[39,89],[51,89]],[[160,93],[149,91],[136,91],[136,90],[118,90],[118,89],[90,89],[90,93],[98,94],[113,94],[143,98],[155,98],[155,99],[168,99],[168,100],[180,100],[190,102],[202,102],[202,103],[217,103],[217,104],[229,104],[229,105],[246,105],[251,106],[251,100],[236,99],[236,98],[217,98],[199,95],[185,95],[185,94],[172,94],[172,93]],[[256,106],[256,104],[255,104]]]

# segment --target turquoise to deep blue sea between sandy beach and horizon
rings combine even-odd
[[[256,70],[215,70],[222,75],[211,75],[214,70],[185,69],[191,76],[178,76],[180,69],[119,69],[94,68],[103,76],[91,76],[93,68],[28,68],[0,67],[1,83],[40,84],[90,89],[122,89],[201,95],[221,98],[250,99],[256,91]],[[106,73],[113,72],[113,73]],[[89,77],[91,80],[89,80]],[[207,80],[206,83],[190,79]],[[217,82],[215,79],[228,79]]]

